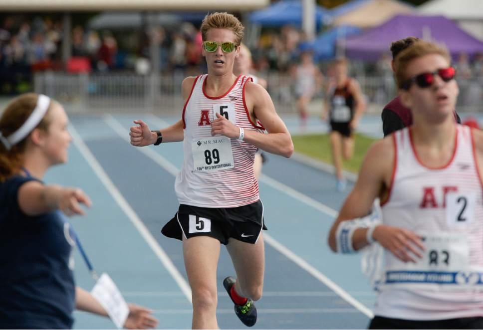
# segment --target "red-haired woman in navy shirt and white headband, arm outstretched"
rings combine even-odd
[[[84,214],[80,205],[91,201],[81,189],[41,181],[67,161],[67,124],[59,103],[33,93],[0,118],[0,329],[70,329],[74,308],[107,316],[75,287],[70,227],[59,214]],[[149,310],[129,308],[126,328],[156,327]]]

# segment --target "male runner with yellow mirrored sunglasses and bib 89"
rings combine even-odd
[[[268,93],[233,64],[243,26],[228,13],[212,13],[201,26],[208,74],[183,81],[182,119],[154,131],[142,121],[131,127],[134,146],[183,141],[184,163],[176,178],[180,207],[163,234],[183,240],[193,292],[193,329],[217,329],[217,264],[227,246],[237,279],[224,286],[246,326],[256,322],[253,301],[261,298],[264,248],[263,206],[253,175],[257,148],[290,157],[293,144]],[[264,130],[268,134],[264,134]]]

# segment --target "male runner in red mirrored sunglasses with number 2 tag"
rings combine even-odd
[[[395,64],[413,125],[369,150],[329,245],[384,248],[370,329],[483,329],[483,133],[455,122],[447,50],[418,41]],[[376,197],[382,224],[364,223]]]

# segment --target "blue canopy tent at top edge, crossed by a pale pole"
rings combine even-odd
[[[258,23],[262,26],[283,26],[293,24],[302,25],[302,1],[301,0],[281,0],[266,8],[255,10],[248,15],[248,19],[252,23]],[[315,22],[317,28],[321,25],[329,24],[331,16],[329,10],[316,6]]]

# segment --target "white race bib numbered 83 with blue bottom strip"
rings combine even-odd
[[[423,258],[416,263],[403,262],[386,251],[384,285],[434,288],[481,284],[479,272],[471,272],[470,247],[467,236],[453,233],[418,233],[424,240]],[[471,282],[471,283],[470,283]]]

